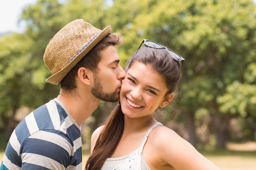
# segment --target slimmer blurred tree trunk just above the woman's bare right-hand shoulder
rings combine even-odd
[[[196,147],[197,145],[197,138],[196,138],[196,127],[195,127],[195,113],[194,112],[188,112],[187,113],[187,121],[186,121],[186,128],[188,131],[189,140],[188,142]]]

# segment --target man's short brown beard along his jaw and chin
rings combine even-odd
[[[117,102],[119,100],[119,93],[113,92],[113,93],[105,93],[103,91],[103,86],[100,82],[100,79],[97,75],[94,75],[94,85],[92,87],[92,95],[95,97],[95,99],[100,99],[105,102]]]

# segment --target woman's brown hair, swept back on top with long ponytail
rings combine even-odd
[[[166,49],[156,49],[143,46],[137,53],[132,55],[127,64],[129,69],[134,61],[141,62],[153,68],[159,75],[165,79],[168,89],[165,96],[176,90],[181,78],[182,64],[172,59]],[[121,105],[110,113],[110,116],[104,123],[100,136],[96,141],[93,152],[88,158],[85,169],[100,170],[107,158],[109,158],[116,149],[124,130],[124,114]]]

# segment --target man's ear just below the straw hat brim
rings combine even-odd
[[[85,67],[80,67],[77,70],[77,77],[78,80],[86,85],[91,85],[93,80],[93,73],[90,69],[87,69]]]

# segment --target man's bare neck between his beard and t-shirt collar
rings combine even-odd
[[[66,90],[60,90],[57,97],[61,103],[67,108],[68,112],[76,123],[80,126],[84,120],[92,115],[100,101],[92,100],[91,93],[88,95],[70,93]]]

